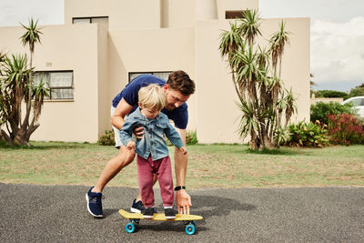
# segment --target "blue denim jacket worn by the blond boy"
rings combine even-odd
[[[126,146],[132,140],[135,127],[144,127],[143,137],[136,138],[136,154],[146,159],[149,155],[154,161],[168,156],[165,134],[174,146],[178,148],[184,146],[181,137],[169,124],[168,117],[163,113],[149,120],[141,114],[140,108],[137,107],[135,112],[127,116],[126,122],[120,130],[120,140],[123,145]]]

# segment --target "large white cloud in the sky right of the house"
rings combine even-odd
[[[311,25],[311,73],[320,83],[364,82],[364,17]]]

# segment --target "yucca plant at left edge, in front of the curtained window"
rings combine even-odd
[[[10,145],[29,146],[30,136],[40,126],[38,119],[44,98],[49,96],[49,88],[43,78],[36,86],[32,80],[32,56],[42,34],[36,24],[31,19],[29,26],[23,25],[26,31],[21,37],[23,45],[29,45],[30,66],[27,65],[26,55],[5,56],[0,66],[0,138]],[[25,114],[22,114],[24,102]]]

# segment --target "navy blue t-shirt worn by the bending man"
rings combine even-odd
[[[138,96],[137,93],[142,86],[150,84],[157,84],[159,86],[166,85],[166,81],[152,75],[136,76],[126,87],[113,99],[113,106],[116,107],[120,100],[124,98],[130,106],[134,106],[130,113],[134,112],[137,108]],[[175,127],[179,129],[186,129],[188,123],[188,109],[187,104],[183,103],[181,106],[173,110],[162,109],[162,112],[168,116],[175,123]],[[129,113],[129,114],[130,114]]]

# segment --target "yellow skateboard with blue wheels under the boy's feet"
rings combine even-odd
[[[128,218],[129,222],[126,224],[126,232],[133,233],[136,230],[136,227],[139,225],[140,219],[148,219],[148,220],[159,220],[159,221],[184,221],[187,235],[193,235],[196,231],[196,223],[195,220],[201,220],[202,217],[198,215],[186,215],[186,214],[177,214],[174,219],[165,218],[165,214],[154,214],[153,218],[143,218],[142,214],[137,213],[129,213],[126,210],[120,209],[119,214]]]

